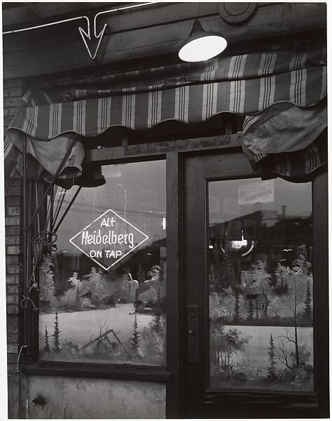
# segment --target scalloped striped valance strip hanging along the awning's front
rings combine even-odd
[[[325,72],[326,67],[317,67],[257,79],[185,83],[160,90],[148,86],[145,92],[131,88],[132,93],[125,95],[20,107],[10,128],[38,139],[68,131],[95,136],[110,126],[144,130],[170,119],[198,123],[222,112],[253,114],[281,101],[306,107],[326,95],[322,87]]]

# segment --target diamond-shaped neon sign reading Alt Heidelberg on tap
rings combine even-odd
[[[148,236],[112,209],[106,210],[69,241],[108,270],[148,240]]]

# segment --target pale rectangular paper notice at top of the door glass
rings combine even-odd
[[[275,201],[275,180],[251,182],[239,186],[239,204]]]

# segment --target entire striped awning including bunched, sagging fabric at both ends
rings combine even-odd
[[[22,151],[23,135],[28,140],[29,159],[31,156],[36,167],[31,176],[43,178],[45,173],[54,175],[53,167],[61,161],[69,139],[75,134],[83,138],[96,136],[112,126],[143,130],[167,120],[198,123],[223,112],[247,116],[244,152],[251,161],[259,161],[270,153],[307,147],[326,127],[326,48],[314,41],[296,41],[262,50],[203,63],[39,84],[24,95],[8,128],[5,145],[8,171],[12,176],[21,173],[22,163],[19,156],[15,158],[17,151],[13,145]],[[258,123],[253,114],[259,114]],[[306,128],[300,127],[299,132],[291,114],[296,114],[296,121],[303,114]],[[266,149],[265,140],[257,145],[255,135],[257,131],[257,139],[262,138],[265,129],[259,121],[269,119],[266,117],[269,115],[275,126],[280,123],[284,133],[289,133],[280,140],[282,145],[275,136],[273,150]],[[312,130],[316,123],[317,129]],[[61,177],[81,175],[83,156],[83,145],[77,141]],[[50,157],[53,165],[46,163]]]

